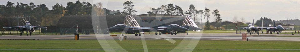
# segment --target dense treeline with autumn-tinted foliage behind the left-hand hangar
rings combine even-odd
[[[124,2],[124,11],[112,11],[102,7],[102,3],[91,4],[89,2],[68,2],[67,6],[57,3],[49,10],[45,4],[36,5],[31,3],[12,3],[7,2],[6,5],[0,5],[0,19],[2,26],[16,26],[17,17],[30,18],[33,25],[49,26],[56,25],[58,20],[66,15],[135,15],[133,11],[133,3]],[[130,7],[128,7],[130,6]],[[46,23],[47,22],[47,23]],[[46,24],[45,24],[46,23]]]

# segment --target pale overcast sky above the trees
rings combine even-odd
[[[1,5],[6,5],[7,1],[17,3],[34,2],[35,5],[45,4],[49,10],[56,3],[67,6],[67,2],[77,0],[0,0]],[[123,3],[132,1],[135,14],[146,14],[150,8],[157,8],[161,5],[173,3],[182,7],[183,11],[188,10],[190,4],[195,5],[197,10],[205,7],[211,10],[218,10],[223,21],[232,21],[234,16],[245,18],[246,22],[258,20],[261,17],[270,17],[273,20],[300,19],[300,0],[79,0],[80,2],[103,3],[103,7],[109,10],[123,11]],[[210,22],[215,21],[216,17],[210,15]],[[203,20],[204,22],[206,20]]]

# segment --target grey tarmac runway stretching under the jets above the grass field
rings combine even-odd
[[[176,40],[176,39],[200,39],[200,40],[229,40],[229,41],[241,41],[242,34],[236,33],[189,33],[185,34],[143,34],[142,37],[135,36],[133,34],[126,34],[127,40]],[[247,35],[250,41],[300,41],[300,35],[295,34],[280,34],[280,35]],[[0,35],[0,40],[73,40],[74,35],[32,35],[32,36],[20,36],[20,35]],[[99,35],[79,35],[80,40],[120,40],[123,39],[121,35],[116,37],[110,37],[107,34]]]

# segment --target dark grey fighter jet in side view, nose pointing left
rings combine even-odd
[[[143,27],[143,28],[131,27],[131,26],[126,26],[125,24],[117,24],[113,27],[106,28],[104,30],[108,31],[108,32],[120,32],[120,33],[122,33],[122,36],[124,36],[124,33],[135,34],[135,36],[142,36],[141,33],[151,32],[155,29],[154,28],[148,28],[148,27]]]

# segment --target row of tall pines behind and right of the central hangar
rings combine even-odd
[[[158,8],[151,8],[151,11],[147,12],[148,14],[163,14],[164,16],[183,16],[183,15],[187,15],[187,16],[191,16],[192,19],[195,21],[195,23],[199,23],[200,28],[203,28],[203,23],[202,23],[202,19],[207,19],[207,22],[205,23],[204,29],[211,29],[211,24],[209,22],[209,16],[210,14],[213,14],[214,17],[216,17],[215,22],[216,25],[215,26],[217,29],[219,29],[219,27],[221,25],[220,22],[222,22],[221,19],[221,15],[219,14],[219,11],[216,9],[213,12],[210,12],[210,9],[205,8],[203,10],[197,10],[196,7],[194,5],[189,5],[189,8],[187,11],[183,11],[182,8],[178,5],[174,5],[172,3],[167,4],[167,5],[161,5]],[[198,15],[200,15],[200,17],[198,17]],[[204,18],[202,18],[202,15],[204,15]],[[201,23],[200,23],[201,22]]]

